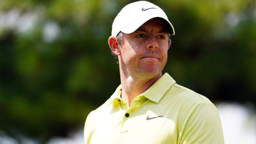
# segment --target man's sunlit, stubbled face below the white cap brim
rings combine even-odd
[[[121,68],[136,78],[153,78],[161,74],[170,47],[163,22],[152,18],[131,34],[123,35],[119,45]]]

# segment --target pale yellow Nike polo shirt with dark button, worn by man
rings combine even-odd
[[[165,73],[129,107],[120,85],[84,126],[85,144],[224,144],[218,110]]]

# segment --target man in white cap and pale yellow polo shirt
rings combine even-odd
[[[109,47],[121,85],[85,122],[85,144],[223,144],[216,107],[161,71],[174,29],[149,2],[125,6],[115,18]]]

